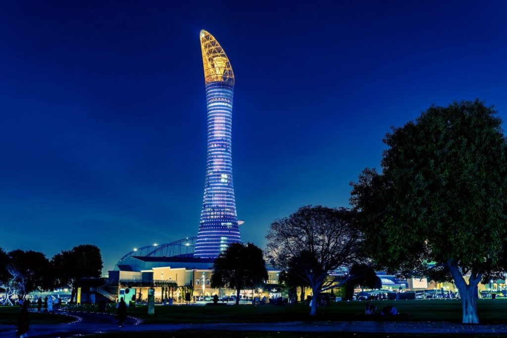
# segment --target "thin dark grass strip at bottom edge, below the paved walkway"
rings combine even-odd
[[[90,338],[139,338],[139,332],[102,333],[87,335]],[[344,332],[213,332],[213,331],[185,331],[185,332],[142,332],[143,338],[456,338],[456,334],[386,334],[386,333],[344,333]],[[494,338],[504,337],[499,334],[467,334],[460,338]]]

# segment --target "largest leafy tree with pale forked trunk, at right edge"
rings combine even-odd
[[[386,134],[381,173],[367,168],[351,183],[350,201],[377,264],[405,276],[453,279],[463,323],[479,322],[481,279],[505,268],[507,143],[500,126],[496,111],[479,100],[431,106]]]

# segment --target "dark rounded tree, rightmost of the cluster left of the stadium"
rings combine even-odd
[[[91,244],[75,246],[62,251],[52,258],[56,278],[60,287],[70,286],[71,302],[77,293],[77,283],[81,278],[98,278],[102,273],[102,255],[100,249]]]

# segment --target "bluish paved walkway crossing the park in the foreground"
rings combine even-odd
[[[72,313],[76,320],[69,324],[31,325],[29,336],[39,338],[71,337],[77,334],[102,332],[143,331],[275,331],[275,332],[354,332],[354,333],[433,333],[433,334],[507,334],[507,325],[463,325],[448,322],[283,322],[283,323],[231,323],[216,324],[152,324],[139,325],[139,320],[129,318],[125,326],[118,327],[115,318],[108,314]],[[0,325],[0,338],[13,337],[13,326]],[[139,335],[142,336],[142,335]]]

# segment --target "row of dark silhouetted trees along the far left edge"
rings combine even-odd
[[[79,245],[62,251],[48,259],[42,252],[0,248],[0,289],[7,297],[24,298],[26,294],[40,290],[71,288],[76,294],[76,282],[83,277],[100,277],[102,257],[95,245]]]

